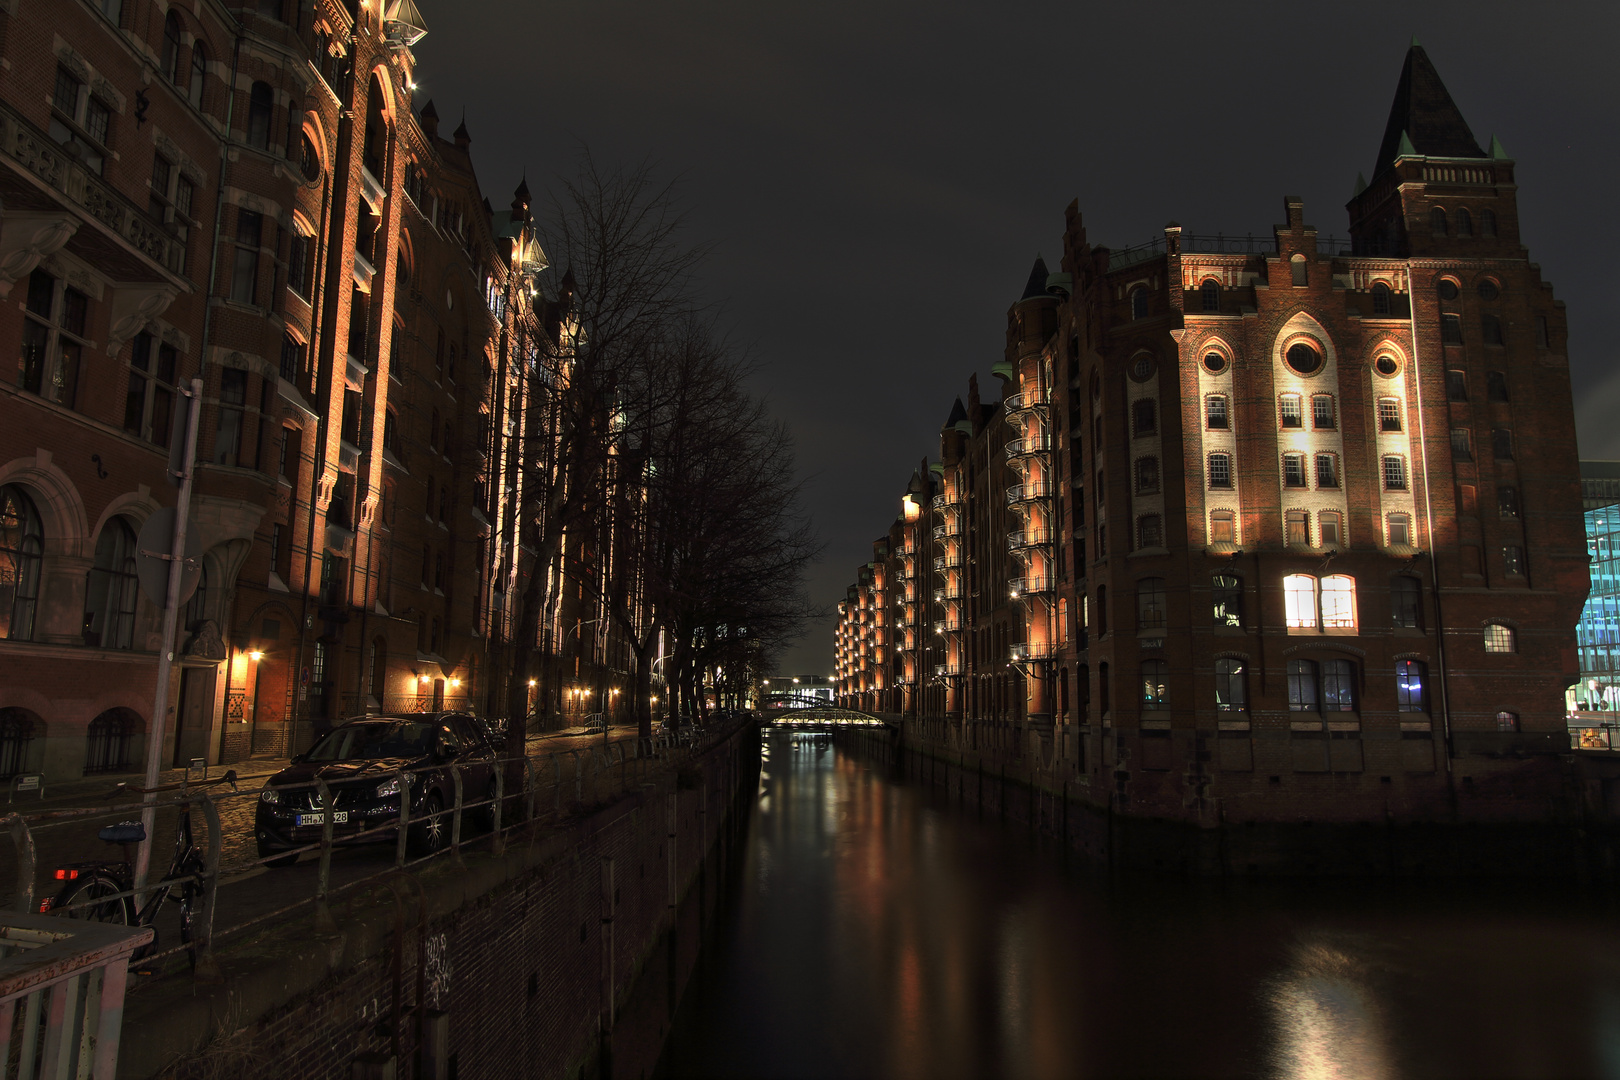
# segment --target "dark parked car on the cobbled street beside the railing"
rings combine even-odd
[[[455,806],[452,769],[462,774],[463,801],[494,798],[496,756],[484,729],[465,712],[366,716],[339,724],[264,784],[254,814],[259,858],[318,842],[327,810],[337,842],[392,844],[399,836],[394,829],[356,834],[399,821],[399,769],[420,769],[410,780],[410,848],[437,852],[450,840],[450,814],[437,814]],[[318,777],[332,793],[330,808],[321,803]],[[484,827],[494,823],[492,805],[473,813]],[[290,866],[296,858],[267,865]]]

